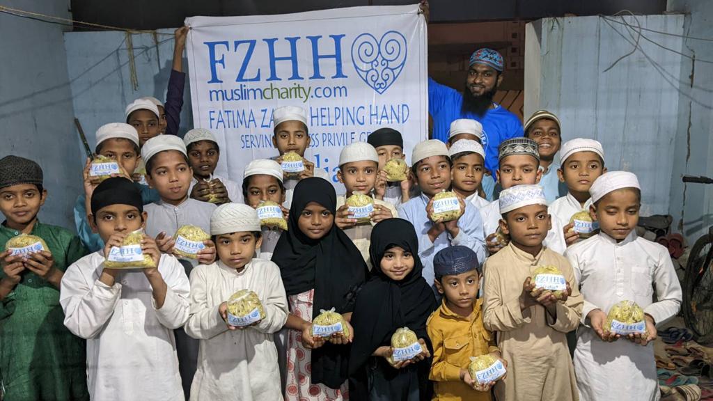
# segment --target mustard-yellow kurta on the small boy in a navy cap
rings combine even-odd
[[[434,346],[429,379],[434,380],[434,401],[490,401],[491,393],[473,390],[461,380],[471,357],[495,352],[493,335],[483,328],[483,300],[473,305],[473,313],[463,317],[441,303],[429,317],[426,329]]]

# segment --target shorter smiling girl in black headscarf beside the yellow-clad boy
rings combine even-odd
[[[406,220],[390,218],[371,231],[371,278],[356,298],[349,355],[352,400],[430,400],[431,343],[426,320],[436,309],[431,286],[421,276],[419,240]],[[424,351],[411,360],[392,362],[391,335],[408,327]]]

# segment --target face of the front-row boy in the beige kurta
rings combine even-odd
[[[505,220],[500,220],[503,233],[509,234],[513,243],[524,248],[542,245],[552,221],[545,205],[527,205],[512,210]]]

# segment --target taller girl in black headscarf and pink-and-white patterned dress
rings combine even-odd
[[[272,261],[282,273],[291,313],[285,327],[285,400],[342,400],[347,390],[350,336],[312,337],[312,319],[336,308],[348,321],[354,296],[366,280],[366,263],[352,240],[334,225],[337,194],[322,178],[305,178],[294,188],[288,230]]]

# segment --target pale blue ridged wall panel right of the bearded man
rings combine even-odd
[[[617,19],[617,21],[621,21]],[[682,34],[682,15],[627,17],[646,29]],[[543,19],[525,31],[525,68],[533,64],[538,76],[525,75],[526,115],[545,108],[562,121],[563,141],[595,138],[605,149],[610,170],[632,171],[642,185],[642,215],[668,213],[674,142],[679,126],[679,92],[666,74],[681,75],[682,39],[657,35],[655,41],[672,51],[640,39],[640,50],[623,59],[634,41],[625,25],[597,16]],[[617,33],[620,32],[620,33]],[[527,57],[530,58],[527,58]],[[620,59],[616,64],[617,59]],[[614,66],[612,66],[615,64]]]

